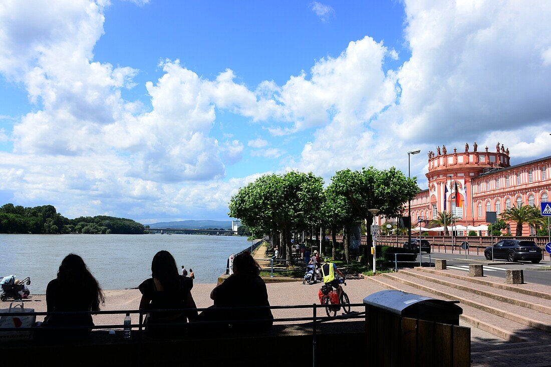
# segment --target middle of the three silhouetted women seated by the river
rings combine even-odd
[[[168,251],[162,250],[153,256],[151,272],[152,277],[138,287],[142,293],[141,310],[196,309],[190,292],[193,280],[180,275]],[[195,316],[197,311],[152,311],[145,320],[145,333],[154,337],[177,337],[185,325],[170,324],[182,324]]]

